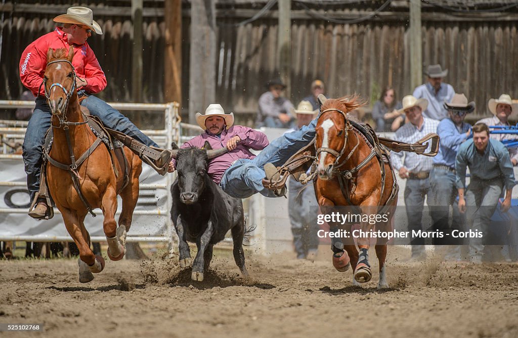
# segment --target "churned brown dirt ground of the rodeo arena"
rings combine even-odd
[[[405,264],[406,249],[389,247],[391,288],[379,291],[377,273],[352,286],[327,246],[314,263],[291,253],[248,257],[247,279],[228,254],[215,255],[202,283],[158,256],[107,260],[88,284],[78,282],[76,260],[0,261],[0,322],[45,327],[0,336],[518,336],[516,263]]]

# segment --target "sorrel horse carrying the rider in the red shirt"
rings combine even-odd
[[[79,248],[79,281],[87,283],[94,278],[92,272],[104,269],[105,262],[90,249],[90,234],[84,227],[84,217],[88,212],[93,213],[92,209],[102,209],[108,257],[111,260],[122,259],[126,232],[130,230],[137,204],[142,161],[127,148],[123,149],[129,174],[127,185],[123,187],[122,166],[119,161],[112,161],[116,157],[114,150],[108,149],[93,133],[87,124],[88,117],[81,111],[76,72],[71,63],[73,57],[72,47],[68,54],[65,49],[49,49],[47,53],[44,85],[52,112],[54,139],[47,156],[46,174],[55,205]],[[119,227],[114,218],[118,194],[122,198]]]

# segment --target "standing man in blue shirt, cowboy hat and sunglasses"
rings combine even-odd
[[[430,216],[434,222],[434,230],[450,232],[460,229],[460,215],[458,208],[453,208],[453,221],[450,227],[450,205],[454,205],[457,197],[455,184],[455,156],[461,144],[471,137],[471,126],[464,122],[467,114],[475,109],[473,101],[468,103],[464,94],[455,94],[451,102],[444,102],[444,108],[448,110],[449,119],[442,120],[437,126],[437,134],[441,142],[439,153],[434,157],[434,167],[430,171]],[[450,244],[451,236],[434,239],[434,244]],[[450,253],[452,257],[459,259],[460,252]],[[453,256],[457,257],[453,257]]]

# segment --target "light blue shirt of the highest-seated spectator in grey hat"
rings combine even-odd
[[[428,100],[428,108],[423,111],[423,115],[429,119],[441,121],[448,117],[448,110],[444,108],[444,102],[451,102],[455,91],[451,84],[441,83],[437,95],[430,82],[418,86],[412,94],[415,98],[425,98]]]

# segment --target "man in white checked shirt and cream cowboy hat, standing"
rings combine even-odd
[[[425,98],[415,98],[407,95],[402,100],[403,108],[409,123],[396,131],[395,140],[414,143],[429,133],[437,131],[439,121],[423,116],[428,106]],[[403,157],[405,157],[403,159]],[[425,196],[430,197],[429,174],[432,168],[432,158],[411,152],[391,152],[392,166],[399,172],[399,177],[407,179],[405,187],[405,205],[408,217],[408,231],[422,230],[422,216]],[[414,238],[411,260],[421,260],[426,257],[424,239]]]

